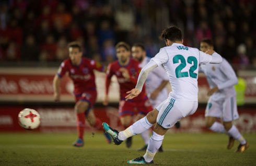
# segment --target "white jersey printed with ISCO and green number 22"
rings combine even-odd
[[[210,63],[212,56],[196,48],[173,43],[160,49],[151,61],[158,66],[164,66],[172,89],[170,97],[176,100],[197,101],[199,64]]]

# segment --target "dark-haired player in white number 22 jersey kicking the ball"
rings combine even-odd
[[[113,138],[114,143],[119,145],[126,138],[144,132],[157,122],[145,155],[129,160],[128,163],[154,163],[153,158],[168,129],[181,118],[193,114],[197,109],[199,64],[222,62],[222,57],[213,50],[206,54],[196,48],[184,46],[181,30],[176,26],[163,30],[161,38],[165,40],[167,46],[160,49],[159,53],[142,68],[137,85],[135,89],[127,92],[126,100],[133,99],[141,93],[148,73],[157,66],[164,66],[168,75],[172,89],[169,97],[156,109],[149,112],[146,117],[141,118],[122,132],[112,129],[107,123],[102,124],[105,131]]]

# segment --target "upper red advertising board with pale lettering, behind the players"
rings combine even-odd
[[[53,77],[57,68],[0,68],[0,101],[53,101]],[[247,82],[246,103],[256,103],[256,72],[242,71],[242,78]],[[97,102],[104,99],[104,77],[103,73],[96,73],[96,86],[98,91]],[[209,90],[206,77],[199,75],[199,103],[206,103],[208,100],[207,91]],[[119,102],[119,85],[117,79],[113,77],[110,86],[110,102]],[[68,77],[61,81],[61,101],[73,102],[73,83]]]

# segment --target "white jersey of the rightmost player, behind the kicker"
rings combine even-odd
[[[230,64],[223,58],[220,64],[200,65],[200,70],[206,75],[210,88],[218,87],[219,91],[213,93],[212,100],[223,100],[236,96],[234,85],[237,84],[237,76]]]

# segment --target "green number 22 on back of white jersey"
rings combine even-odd
[[[197,77],[197,74],[194,73],[194,70],[196,70],[197,68],[197,60],[194,56],[189,56],[187,59],[187,62],[193,65],[190,67],[189,72],[181,72],[181,70],[187,66],[184,56],[178,54],[178,55],[175,55],[172,59],[173,64],[179,63],[179,61],[180,61],[180,65],[177,66],[175,69],[175,74],[177,78],[189,77],[189,76],[192,78]]]

